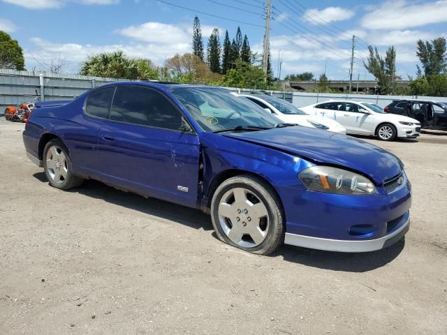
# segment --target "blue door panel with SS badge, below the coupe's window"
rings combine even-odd
[[[98,142],[103,179],[137,193],[196,207],[197,135],[105,121]]]

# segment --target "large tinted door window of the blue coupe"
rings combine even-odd
[[[178,130],[182,114],[163,94],[136,86],[118,86],[110,119],[142,126]]]

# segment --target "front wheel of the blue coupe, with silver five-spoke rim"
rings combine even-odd
[[[249,253],[268,255],[284,241],[281,202],[261,179],[240,175],[223,181],[211,202],[217,237]]]

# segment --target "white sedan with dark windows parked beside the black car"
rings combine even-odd
[[[414,138],[420,135],[416,119],[383,112],[381,107],[360,101],[325,101],[302,107],[312,115],[337,120],[348,134],[374,135],[379,140],[393,141],[397,137]]]

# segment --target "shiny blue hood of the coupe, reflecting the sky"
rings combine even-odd
[[[223,136],[286,151],[317,164],[356,170],[369,176],[376,184],[382,184],[402,172],[399,158],[390,152],[355,137],[329,131],[295,126],[226,133]]]

